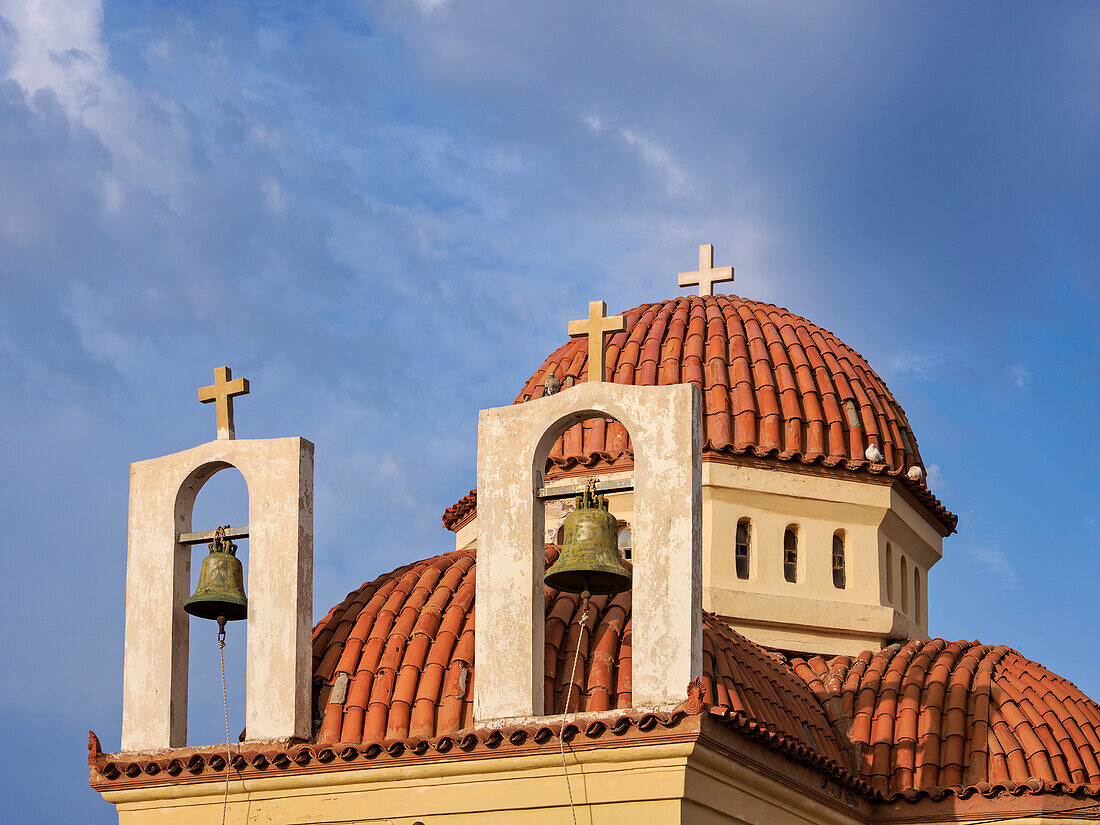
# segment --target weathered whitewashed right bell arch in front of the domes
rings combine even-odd
[[[537,491],[557,439],[596,416],[634,444],[635,705],[674,704],[702,669],[702,403],[692,384],[585,383],[482,410],[474,718],[543,712],[544,514]]]

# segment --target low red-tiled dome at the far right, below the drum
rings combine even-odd
[[[792,668],[881,793],[1100,792],[1100,706],[1011,648],[914,639]]]

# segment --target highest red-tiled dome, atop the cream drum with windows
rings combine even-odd
[[[606,381],[691,382],[703,393],[703,455],[751,455],[898,477],[944,525],[957,518],[905,472],[924,468],[905,411],[858,352],[828,330],[772,304],[710,295],[642,304],[623,312],[607,338]],[[547,375],[587,380],[587,342],[574,338],[535,371],[515,403],[546,394]],[[884,461],[866,458],[869,444]],[[623,425],[590,419],[566,430],[550,452],[559,469],[614,466],[630,460]],[[449,529],[475,507],[471,493],[443,514]]]

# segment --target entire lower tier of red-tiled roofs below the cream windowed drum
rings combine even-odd
[[[558,558],[548,547],[546,563]],[[473,727],[476,551],[414,562],[350,593],[314,629],[318,745],[426,740]],[[630,708],[630,591],[546,588],[546,714]],[[1100,706],[1018,651],[915,639],[785,659],[703,614],[703,702],[788,755],[876,795],[1100,795]],[[686,685],[685,685],[686,694]]]

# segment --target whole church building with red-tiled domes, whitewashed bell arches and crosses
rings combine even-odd
[[[832,332],[713,294],[732,276],[704,246],[680,277],[700,295],[593,302],[482,411],[454,549],[311,629],[309,442],[238,441],[220,407],[218,441],[135,464],[122,751],[89,738],[120,822],[1100,818],[1100,706],[1012,648],[928,637],[957,519],[901,405]],[[245,733],[195,747],[190,506],[230,465],[273,550],[250,558]],[[591,598],[543,581],[585,487],[632,576]]]

